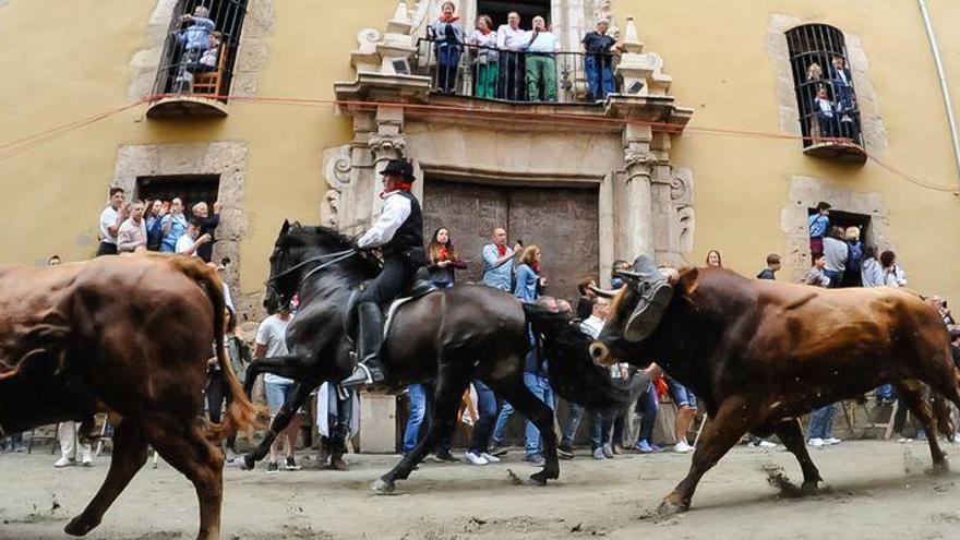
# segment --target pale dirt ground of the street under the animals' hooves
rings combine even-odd
[[[370,484],[396,456],[350,456],[352,470],[336,472],[303,454],[301,471],[228,469],[223,538],[960,538],[960,473],[926,473],[926,444],[814,449],[827,487],[803,497],[784,480],[797,484],[801,476],[780,448],[739,446],[704,478],[693,508],[667,519],[653,509],[686,473],[689,455],[600,461],[581,452],[561,463],[560,481],[536,488],[511,481],[507,469],[524,478],[535,470],[515,449],[485,467],[428,461],[398,483],[397,494],[383,496]],[[946,448],[960,454],[960,446]],[[99,488],[108,459],[53,469],[48,452],[0,455],[0,539],[69,538],[63,526]],[[137,475],[89,538],[188,539],[196,525],[192,485],[160,463]]]

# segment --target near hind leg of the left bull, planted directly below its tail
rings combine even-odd
[[[224,453],[214,446],[193,418],[159,415],[143,422],[147,441],[196,490],[200,501],[199,540],[220,538],[224,494]]]

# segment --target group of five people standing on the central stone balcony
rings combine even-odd
[[[480,14],[475,29],[466,35],[456,5],[444,2],[440,17],[427,31],[436,61],[436,89],[457,93],[460,61],[467,58],[475,97],[556,101],[560,39],[543,16],[532,17],[529,29],[520,24],[520,14],[515,11],[497,28],[493,28],[490,15]],[[614,91],[613,57],[619,48],[609,29],[610,21],[601,19],[581,40],[588,100],[605,99]]]

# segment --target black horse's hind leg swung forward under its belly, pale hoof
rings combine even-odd
[[[460,399],[469,383],[470,373],[464,373],[460,367],[442,365],[437,370],[436,391],[433,395],[430,430],[427,436],[421,439],[393,469],[373,483],[374,491],[392,493],[396,489],[396,480],[406,480],[413,467],[422,461],[440,441],[453,433],[457,424],[456,415],[460,408]]]

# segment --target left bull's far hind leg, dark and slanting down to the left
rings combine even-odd
[[[68,535],[82,537],[100,525],[104,513],[146,463],[146,440],[131,420],[123,420],[113,433],[113,456],[104,485],[83,513],[63,529]]]

